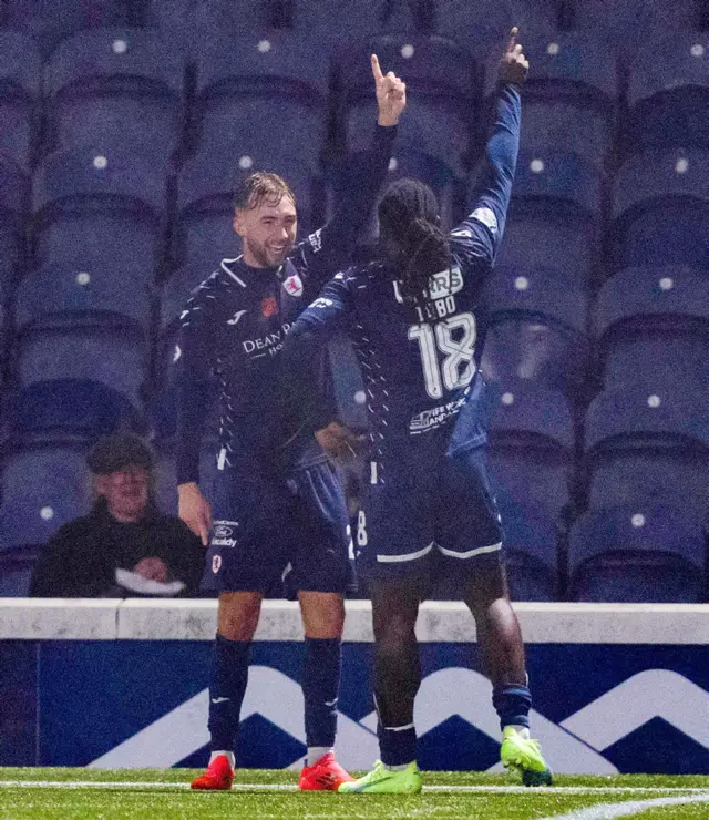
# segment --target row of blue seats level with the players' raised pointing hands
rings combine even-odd
[[[294,33],[226,37],[218,28],[205,32],[191,62],[153,32],[96,29],[64,41],[42,65],[23,34],[0,31],[0,150],[29,166],[107,133],[179,162],[233,134],[250,150],[270,132],[270,160],[296,151],[316,170],[345,134],[350,151],[369,134],[374,50],[410,89],[402,145],[460,176],[481,136],[483,99],[494,90],[494,61],[476,62],[454,40],[392,33],[348,38],[330,59],[327,48],[314,50]],[[600,172],[614,140],[625,153],[708,148],[707,45],[698,32],[664,32],[626,78],[604,40],[530,34],[523,151],[574,154]]]

